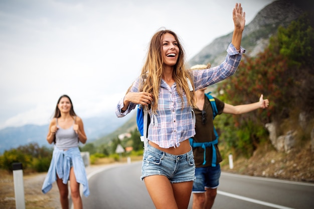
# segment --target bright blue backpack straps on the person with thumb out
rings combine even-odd
[[[206,93],[206,97],[208,98],[208,100],[210,101],[211,105],[212,105],[212,109],[213,109],[213,120],[215,119],[216,115],[218,114],[218,110],[217,110],[217,106],[216,106],[216,102],[215,99],[212,95],[210,95],[211,92]],[[190,144],[191,146],[194,147],[202,147],[204,149],[204,161],[203,161],[203,165],[205,165],[206,163],[206,147],[210,147],[212,146],[213,148],[213,157],[212,157],[212,167],[216,167],[216,161],[217,161],[217,156],[216,156],[216,148],[215,148],[215,144],[218,144],[218,134],[217,131],[215,129],[214,126],[214,133],[215,133],[215,140],[214,141],[210,141],[210,142],[194,142],[193,138],[190,138]]]

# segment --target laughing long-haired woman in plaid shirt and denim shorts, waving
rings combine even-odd
[[[188,208],[195,163],[189,138],[195,135],[191,107],[194,91],[233,75],[240,63],[245,13],[241,4],[233,9],[234,32],[227,56],[219,66],[189,71],[177,35],[160,30],[151,38],[141,75],[132,83],[116,107],[123,117],[137,104],[149,106],[148,144],[142,176],[156,208]]]

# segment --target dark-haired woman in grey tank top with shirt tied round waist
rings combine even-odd
[[[70,97],[62,95],[49,125],[47,141],[49,144],[54,142],[55,146],[42,191],[47,193],[52,183],[57,181],[63,209],[69,208],[68,180],[75,209],[83,208],[80,183],[84,186],[84,195],[89,195],[85,166],[78,147],[79,142],[85,144],[86,140],[82,119],[75,114]]]

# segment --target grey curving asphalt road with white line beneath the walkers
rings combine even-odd
[[[140,175],[141,162],[108,166],[90,173],[90,195],[82,196],[83,207],[154,208]],[[314,208],[314,184],[222,173],[213,208]]]

